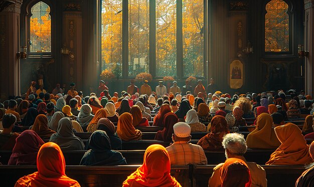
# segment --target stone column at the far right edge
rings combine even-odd
[[[309,52],[305,57],[305,92],[308,95],[314,94],[314,0],[304,0],[305,29],[304,48]]]

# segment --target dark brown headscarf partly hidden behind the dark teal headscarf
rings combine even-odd
[[[121,150],[122,149],[122,141],[118,136],[115,135],[115,126],[109,119],[107,119],[107,118],[99,119],[97,130],[103,130],[107,133],[107,135],[110,139],[110,144],[111,144],[112,150]],[[86,143],[85,149],[86,150],[89,149],[88,141]]]

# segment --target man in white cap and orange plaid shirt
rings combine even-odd
[[[191,137],[191,127],[187,123],[178,122],[174,125],[174,143],[166,147],[172,165],[207,164],[203,148],[189,143]]]

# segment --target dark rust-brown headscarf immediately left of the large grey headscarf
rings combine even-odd
[[[39,114],[34,122],[31,130],[34,130],[42,139],[50,138],[51,135],[56,133],[48,128],[48,119],[44,114]]]

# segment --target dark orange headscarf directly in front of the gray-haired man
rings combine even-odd
[[[220,168],[221,186],[251,186],[251,174],[245,161],[239,158],[226,159]]]

